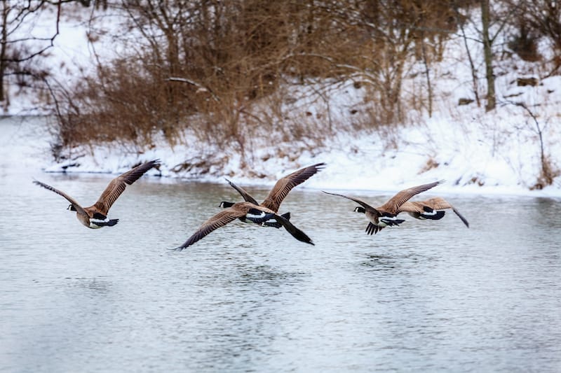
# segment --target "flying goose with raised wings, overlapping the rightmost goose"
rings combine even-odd
[[[356,207],[354,211],[358,213],[364,213],[366,215],[366,218],[370,220],[365,231],[367,232],[367,234],[377,234],[384,227],[391,227],[392,225],[397,226],[405,221],[403,219],[398,219],[397,214],[400,213],[399,208],[401,205],[407,202],[407,199],[410,199],[414,195],[418,195],[421,192],[425,192],[426,190],[429,190],[436,185],[441,184],[442,182],[443,181],[435,181],[434,183],[418,185],[413,188],[402,190],[401,192],[398,192],[398,194],[391,197],[388,202],[375,209],[374,207],[370,206],[364,201],[361,201],[358,198],[347,197],[346,195],[337,195],[335,193],[329,192],[324,193],[351,199],[351,201],[360,204],[360,206]]]

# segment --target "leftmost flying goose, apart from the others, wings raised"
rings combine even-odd
[[[119,198],[121,193],[125,190],[127,184],[130,185],[135,181],[137,181],[138,178],[144,175],[146,171],[148,171],[152,167],[158,166],[160,164],[159,162],[160,162],[159,160],[152,160],[150,162],[140,164],[139,166],[126,171],[121,176],[117,176],[116,178],[111,180],[109,185],[107,185],[107,188],[105,188],[100,198],[97,199],[97,202],[95,202],[93,206],[89,206],[89,207],[80,206],[80,204],[76,202],[76,199],[70,197],[69,195],[67,195],[65,192],[62,192],[61,190],[53,188],[50,185],[41,183],[41,181],[37,181],[37,180],[33,182],[37,185],[42,186],[43,188],[52,190],[58,195],[62,195],[62,197],[65,197],[67,201],[70,202],[70,205],[68,206],[68,210],[76,211],[76,218],[80,220],[80,223],[86,225],[86,227],[92,229],[97,229],[106,226],[112,227],[116,225],[117,222],[119,222],[119,219],[107,218],[107,213],[109,212],[111,205],[114,204],[117,198]]]

